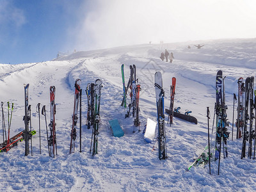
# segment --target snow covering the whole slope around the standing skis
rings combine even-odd
[[[24,141],[9,152],[0,154],[0,191],[255,191],[255,159],[241,160],[242,140],[228,140],[228,157],[221,158],[220,175],[218,161],[209,166],[186,168],[207,144],[206,109],[211,111],[210,128],[214,116],[215,78],[223,71],[226,88],[228,119],[232,131],[233,93],[237,94],[239,77],[256,75],[256,39],[211,40],[197,49],[193,44],[143,44],[111,49],[81,51],[53,61],[19,65],[0,64],[0,98],[4,102],[7,119],[7,102],[14,103],[13,136],[24,130],[24,84],[29,83],[33,129],[33,156],[24,156]],[[191,49],[188,49],[191,45]],[[164,49],[173,52],[173,63],[159,59]],[[126,110],[122,102],[122,76],[120,68],[125,64],[125,81],[129,65],[136,65],[141,84],[140,120],[143,130],[147,118],[156,121],[156,95],[154,73],[163,74],[165,108],[170,105],[170,83],[177,79],[175,107],[189,109],[198,119],[191,124],[173,118],[173,125],[166,124],[168,159],[160,161],[153,143],[147,143],[142,131],[133,133],[132,118],[124,118]],[[79,135],[76,151],[69,154],[72,112],[74,107],[74,83],[82,80],[82,152],[79,152]],[[89,153],[92,129],[87,129],[87,97],[84,90],[88,83],[101,79],[103,83],[100,101],[99,147],[96,156]],[[38,113],[36,104],[46,106],[49,123],[49,88],[56,86],[56,137],[58,156],[49,157],[44,116],[41,115],[42,154],[39,153]],[[42,107],[41,107],[42,108]],[[235,113],[236,115],[236,113]],[[125,135],[112,136],[109,120],[117,118]],[[167,115],[166,115],[167,123]],[[235,116],[236,120],[236,116]],[[157,130],[157,129],[156,129]],[[78,130],[79,132],[79,130]],[[3,140],[0,131],[0,140]],[[253,143],[254,144],[254,143]],[[247,149],[246,149],[247,151]],[[222,157],[222,156],[221,156]]]

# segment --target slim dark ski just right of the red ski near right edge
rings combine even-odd
[[[244,84],[244,129],[243,129],[243,145],[242,145],[242,153],[241,159],[245,157],[246,151],[246,141],[249,138],[249,132],[247,131],[247,124],[250,116],[248,115],[248,106],[249,106],[249,86],[250,86],[251,77],[247,77]]]

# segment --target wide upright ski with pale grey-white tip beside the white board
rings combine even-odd
[[[159,159],[167,159],[164,127],[164,90],[161,72],[155,73]]]

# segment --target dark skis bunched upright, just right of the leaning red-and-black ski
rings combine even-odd
[[[92,129],[92,140],[90,153],[92,156],[98,153],[98,135],[100,123],[100,97],[101,97],[102,81],[97,79],[94,83],[88,83],[86,88],[86,95],[88,98],[88,112],[87,112],[87,127]]]

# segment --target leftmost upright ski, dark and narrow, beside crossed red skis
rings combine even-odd
[[[29,154],[29,116],[28,116],[28,88],[29,84],[24,84],[25,92],[25,116],[23,118],[25,124],[25,156]]]

